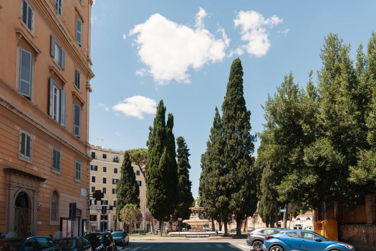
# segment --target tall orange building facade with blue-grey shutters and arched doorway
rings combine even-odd
[[[91,5],[0,0],[0,232],[86,232]]]

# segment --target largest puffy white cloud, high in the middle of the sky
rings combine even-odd
[[[133,44],[147,66],[144,73],[152,75],[158,84],[168,84],[171,80],[190,83],[187,73],[190,68],[198,70],[205,64],[222,61],[229,40],[215,39],[203,28],[200,22],[205,16],[205,10],[200,8],[197,28],[191,29],[157,13],[131,29],[129,35],[136,35]],[[144,73],[136,72],[140,76]]]

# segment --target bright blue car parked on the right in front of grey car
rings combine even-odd
[[[263,251],[355,251],[343,242],[328,240],[308,230],[282,230],[265,236]]]

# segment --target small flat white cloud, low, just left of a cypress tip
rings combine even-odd
[[[157,103],[154,99],[144,96],[133,96],[126,98],[112,107],[112,110],[123,112],[126,116],[133,116],[139,119],[144,118],[144,113],[155,114]]]

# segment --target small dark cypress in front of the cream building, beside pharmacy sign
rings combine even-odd
[[[135,204],[140,207],[139,187],[136,182],[136,174],[130,162],[129,153],[124,152],[123,163],[120,169],[120,179],[116,185],[116,215],[120,220],[120,210],[126,204]]]

